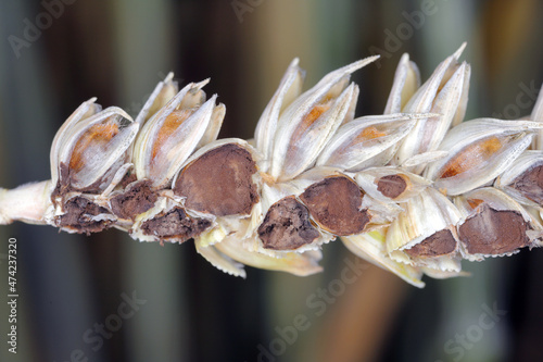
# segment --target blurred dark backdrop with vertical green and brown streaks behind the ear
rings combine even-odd
[[[251,138],[294,57],[308,88],[381,53],[353,76],[357,115],[378,114],[403,52],[426,79],[466,40],[467,117],[526,115],[543,82],[542,15],[535,0],[2,0],[0,185],[50,177],[54,133],[83,101],[96,96],[135,115],[169,71],[181,85],[211,77],[206,92],[227,107],[220,137]],[[7,348],[9,237],[18,249],[16,355]],[[324,252],[320,275],[249,269],[243,280],[207,264],[191,242],[2,226],[0,360],[543,361],[541,250],[465,262],[472,277],[427,279],[422,290],[375,266],[345,284],[354,255],[339,241]],[[134,292],[146,302],[116,319]],[[481,328],[493,305],[506,314]],[[99,338],[93,328],[104,323],[115,330]]]

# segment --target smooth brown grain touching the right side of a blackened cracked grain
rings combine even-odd
[[[324,229],[345,236],[362,233],[369,223],[369,212],[361,210],[363,197],[354,182],[334,176],[307,187],[300,200]]]

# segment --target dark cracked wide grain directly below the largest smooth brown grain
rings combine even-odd
[[[210,226],[211,221],[190,217],[181,208],[175,208],[143,222],[141,229],[143,234],[156,236],[161,240],[182,242],[202,234]]]

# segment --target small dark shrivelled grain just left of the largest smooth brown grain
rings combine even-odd
[[[150,180],[140,180],[128,185],[123,194],[111,199],[113,213],[121,219],[135,217],[151,209],[159,197],[151,189]]]

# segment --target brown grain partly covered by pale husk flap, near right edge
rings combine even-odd
[[[500,255],[528,246],[529,228],[519,212],[495,210],[483,203],[458,227],[458,235],[469,253]]]

